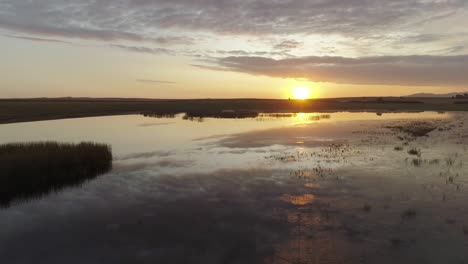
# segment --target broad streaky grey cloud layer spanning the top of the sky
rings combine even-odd
[[[439,54],[468,45],[467,23],[466,0],[0,0],[10,35],[190,57]]]

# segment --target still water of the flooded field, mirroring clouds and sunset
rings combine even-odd
[[[0,125],[113,169],[0,209],[3,263],[466,263],[468,114],[123,115]]]

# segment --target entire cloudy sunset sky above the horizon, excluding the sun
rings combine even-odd
[[[0,97],[468,90],[467,0],[0,0]]]

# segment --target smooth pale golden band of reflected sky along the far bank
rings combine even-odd
[[[0,143],[24,141],[96,141],[112,145],[117,156],[152,151],[187,150],[199,147],[195,139],[254,130],[290,127],[316,122],[353,120],[444,118],[449,114],[424,113],[326,113],[329,119],[316,120],[320,113],[300,113],[286,118],[213,119],[204,122],[147,118],[139,115],[64,119],[0,125]]]

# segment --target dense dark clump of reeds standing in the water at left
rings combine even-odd
[[[111,168],[112,151],[105,144],[0,145],[0,206],[80,185]]]

